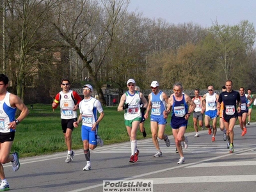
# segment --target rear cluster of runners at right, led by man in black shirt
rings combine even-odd
[[[208,86],[208,93],[203,97],[199,96],[199,90],[195,90],[195,97],[193,101],[196,104],[193,113],[194,129],[196,131],[195,137],[199,137],[198,125],[204,129],[208,128],[208,134],[212,134],[212,141],[215,141],[217,132],[217,119],[220,116],[220,130],[223,131],[223,140],[228,140],[227,148],[230,152],[234,152],[234,125],[238,118],[241,127],[241,136],[247,133],[246,118],[249,116],[248,125],[250,125],[250,118],[252,114],[253,95],[248,89],[248,94],[245,94],[244,87],[239,88],[239,92],[233,90],[232,81],[227,81],[222,87],[220,95],[214,92],[213,86]],[[237,106],[237,108],[236,108]],[[212,122],[212,125],[210,125]],[[231,145],[230,145],[231,144]]]

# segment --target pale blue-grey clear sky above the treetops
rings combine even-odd
[[[216,20],[230,26],[248,20],[256,26],[256,0],[130,0],[128,11],[171,24],[193,22],[203,28]]]

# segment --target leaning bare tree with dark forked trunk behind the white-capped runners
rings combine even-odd
[[[116,28],[122,24],[129,1],[106,0],[101,1],[67,1],[58,8],[58,17],[52,22],[58,31],[63,44],[68,44],[76,51],[88,70],[90,79],[99,94],[100,102],[106,105],[101,90],[99,71],[102,67],[109,48],[116,36]],[[97,60],[96,60],[97,58]]]

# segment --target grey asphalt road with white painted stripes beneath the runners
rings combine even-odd
[[[218,129],[216,141],[207,130],[186,133],[189,146],[184,150],[185,163],[177,164],[172,136],[171,146],[159,141],[163,157],[153,157],[156,149],[151,138],[138,141],[139,161],[129,163],[130,143],[97,147],[91,151],[92,170],[86,164],[83,150],[76,150],[72,163],[65,163],[66,152],[51,156],[20,159],[20,169],[12,172],[4,165],[12,191],[103,191],[103,180],[153,180],[156,191],[255,191],[256,190],[256,123],[241,129],[235,127],[234,154]],[[166,129],[170,129],[167,125]],[[140,133],[138,133],[140,134]],[[64,143],[63,143],[64,145]]]

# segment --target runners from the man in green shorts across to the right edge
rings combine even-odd
[[[168,97],[166,93],[159,90],[159,83],[152,81],[150,84],[152,93],[148,95],[148,102],[143,93],[135,89],[135,86],[134,79],[127,81],[128,90],[122,95],[118,105],[118,111],[125,111],[125,126],[131,140],[131,163],[138,161],[139,150],[137,148],[136,132],[141,120],[147,119],[149,113],[152,141],[157,150],[154,157],[163,155],[157,137],[160,140],[164,140],[167,147],[170,146],[170,140],[164,134],[164,130],[167,123],[166,119],[171,113],[170,124],[176,152],[180,155],[178,164],[182,164],[185,161],[181,143],[183,148],[188,148],[188,138],[184,134],[191,114],[193,114],[193,124],[196,131],[195,137],[200,136],[197,125],[199,122],[201,129],[207,127],[208,134],[212,135],[212,141],[216,141],[217,119],[220,116],[220,130],[223,131],[223,140],[228,140],[227,146],[230,153],[234,152],[233,129],[237,118],[242,130],[241,136],[244,136],[247,132],[246,117],[248,111],[250,109],[252,111],[253,95],[250,93],[250,89],[248,89],[248,94],[246,95],[243,87],[239,89],[239,92],[234,91],[230,80],[226,81],[220,95],[214,92],[213,86],[208,86],[208,93],[203,97],[200,97],[199,90],[196,89],[193,99],[183,92],[181,83],[173,84],[173,94]],[[143,114],[144,112],[145,115]],[[250,118],[248,124],[250,124]]]

